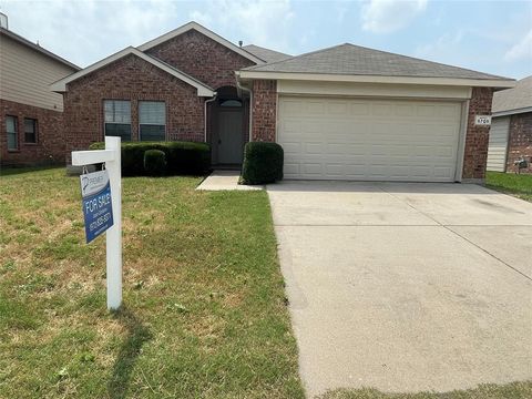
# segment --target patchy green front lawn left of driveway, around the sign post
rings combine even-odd
[[[123,181],[124,308],[79,180],[0,177],[1,398],[301,398],[266,193]]]

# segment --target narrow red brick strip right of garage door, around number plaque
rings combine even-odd
[[[485,176],[490,126],[475,126],[474,116],[491,114],[492,98],[492,89],[473,88],[469,101],[468,130],[463,155],[462,178],[464,180],[483,180]]]

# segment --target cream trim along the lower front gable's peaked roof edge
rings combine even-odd
[[[212,88],[207,86],[206,84],[200,82],[198,80],[187,75],[186,73],[173,68],[172,65],[168,65],[165,62],[162,62],[157,59],[154,59],[153,57],[150,57],[142,51],[139,51],[135,48],[129,47],[125,48],[122,51],[119,51],[117,53],[114,53],[96,63],[93,63],[90,66],[86,66],[85,69],[78,71],[64,79],[61,79],[54,83],[51,84],[51,90],[55,92],[65,92],[66,91],[66,84],[70,82],[73,82],[84,75],[88,75],[89,73],[92,73],[94,71],[98,71],[99,69],[109,65],[110,63],[117,61],[129,54],[136,55],[141,59],[143,59],[146,62],[150,62],[151,64],[157,66],[158,69],[170,73],[171,75],[182,80],[183,82],[194,86],[197,89],[197,95],[198,96],[213,96],[215,95],[214,91]]]

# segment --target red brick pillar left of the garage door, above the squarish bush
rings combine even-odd
[[[252,141],[275,142],[277,82],[253,81]]]

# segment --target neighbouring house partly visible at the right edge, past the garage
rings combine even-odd
[[[515,172],[515,161],[524,157],[532,173],[532,76],[515,88],[493,94],[488,171]]]

